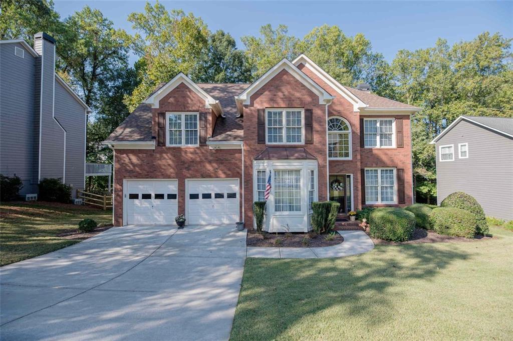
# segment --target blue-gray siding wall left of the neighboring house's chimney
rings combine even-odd
[[[24,58],[14,55],[23,49]],[[21,194],[35,193],[35,59],[22,44],[0,44],[0,173],[23,180]]]

